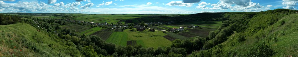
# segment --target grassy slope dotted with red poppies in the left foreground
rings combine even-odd
[[[0,25],[0,37],[0,56],[4,57],[70,56],[68,53],[80,56],[75,46],[68,46],[66,41],[51,38],[26,23]]]

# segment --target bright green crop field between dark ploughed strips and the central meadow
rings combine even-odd
[[[125,32],[113,32],[106,42],[114,43],[116,45],[126,46],[127,44],[127,33]]]

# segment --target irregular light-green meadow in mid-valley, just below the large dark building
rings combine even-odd
[[[150,32],[147,30],[143,32],[130,31],[130,29],[124,30],[128,34],[128,41],[136,41],[137,45],[142,45],[145,47],[164,47],[169,46],[172,42],[163,36],[167,35],[162,31]]]

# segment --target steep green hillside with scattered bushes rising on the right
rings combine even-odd
[[[292,13],[292,14],[290,14]],[[198,57],[285,57],[298,56],[297,31],[298,15],[292,10],[276,9],[258,12],[255,15],[249,13],[226,13],[224,24],[205,42],[204,47],[212,43],[216,46],[197,51],[192,56]],[[226,31],[232,28],[234,33]],[[222,37],[224,36],[224,37]],[[221,40],[221,41],[219,41]],[[211,43],[211,44],[210,44]],[[203,47],[203,48],[204,48]]]

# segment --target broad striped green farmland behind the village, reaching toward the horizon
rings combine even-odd
[[[78,21],[92,21],[95,23],[141,23],[144,22],[162,22],[168,21],[169,19],[162,19],[158,17],[151,17],[148,15],[138,14],[91,14],[91,15],[80,15],[75,14]]]

